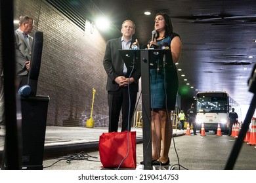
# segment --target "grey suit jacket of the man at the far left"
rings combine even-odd
[[[15,53],[16,53],[16,75],[28,75],[26,70],[26,61],[31,60],[33,38],[28,36],[30,45],[26,41],[22,31],[16,29],[14,31]]]

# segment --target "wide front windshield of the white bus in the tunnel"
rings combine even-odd
[[[227,97],[199,97],[196,106],[197,112],[228,112]]]

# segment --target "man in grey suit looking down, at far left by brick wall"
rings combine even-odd
[[[33,43],[33,38],[28,34],[32,32],[32,29],[33,19],[26,15],[20,16],[19,27],[14,31],[17,91],[21,86],[28,84]]]

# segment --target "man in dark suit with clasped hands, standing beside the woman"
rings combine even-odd
[[[106,43],[103,60],[108,75],[106,90],[108,90],[109,132],[117,131],[120,111],[122,112],[121,131],[131,131],[131,118],[139,92],[140,69],[127,68],[119,54],[119,50],[129,50],[133,45],[139,47],[138,40],[132,39],[135,24],[131,20],[125,20],[121,25],[121,33],[122,37]]]

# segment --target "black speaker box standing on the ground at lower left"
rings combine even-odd
[[[21,169],[43,169],[48,96],[21,97]]]

